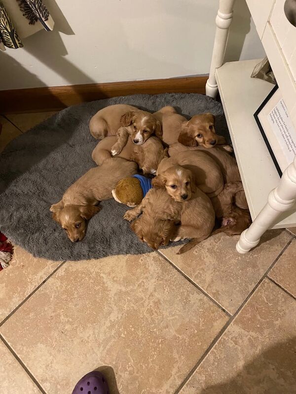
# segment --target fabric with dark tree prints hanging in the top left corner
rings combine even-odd
[[[51,31],[54,22],[42,0],[0,0],[0,49],[21,48],[21,38],[39,30]]]

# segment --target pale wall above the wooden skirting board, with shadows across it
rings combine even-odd
[[[209,72],[218,0],[44,1],[55,29],[0,53],[0,90]],[[263,56],[245,0],[236,0],[226,58]]]

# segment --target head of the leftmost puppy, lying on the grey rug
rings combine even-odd
[[[86,221],[99,212],[93,205],[65,205],[63,201],[50,207],[52,218],[67,232],[72,242],[81,241],[86,231]]]

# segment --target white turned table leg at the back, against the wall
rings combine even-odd
[[[216,68],[221,67],[228,38],[229,27],[233,15],[233,3],[235,0],[220,0],[219,11],[216,17],[216,33],[210,67],[209,79],[206,83],[206,95],[215,99],[218,93],[218,86],[215,77]]]

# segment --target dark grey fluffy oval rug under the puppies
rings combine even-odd
[[[78,243],[67,238],[49,212],[50,205],[94,166],[91,152],[97,141],[88,130],[90,118],[116,103],[149,111],[173,105],[185,116],[212,112],[216,131],[229,138],[221,104],[198,94],[134,95],[84,103],[20,135],[0,155],[0,230],[34,256],[63,261],[151,252],[122,219],[126,207],[115,200],[102,202],[102,210]]]

